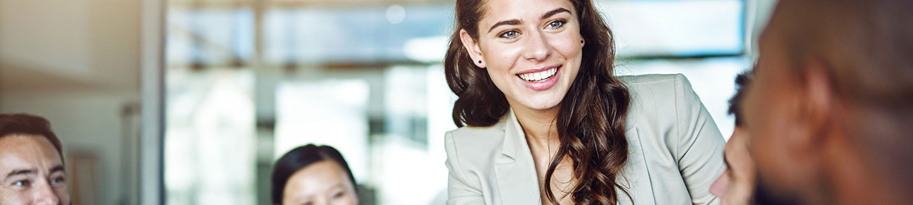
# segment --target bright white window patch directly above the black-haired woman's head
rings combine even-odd
[[[282,82],[276,89],[275,159],[296,147],[331,145],[355,181],[368,178],[368,95],[363,80]]]

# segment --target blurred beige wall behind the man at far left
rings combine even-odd
[[[44,116],[64,154],[98,156],[97,204],[136,204],[121,112],[140,102],[140,14],[139,0],[0,0],[0,112]]]

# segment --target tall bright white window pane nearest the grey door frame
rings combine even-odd
[[[185,76],[194,81],[173,82]],[[255,204],[254,73],[173,69],[168,78],[167,204]]]

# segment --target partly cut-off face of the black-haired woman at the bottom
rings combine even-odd
[[[283,190],[282,204],[358,204],[349,174],[336,161],[318,161],[296,171]]]

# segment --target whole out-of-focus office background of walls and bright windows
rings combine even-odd
[[[617,74],[684,73],[729,136],[774,0],[595,0]],[[77,204],[269,204],[339,149],[363,204],[443,204],[453,0],[0,0],[0,112],[45,116]]]

